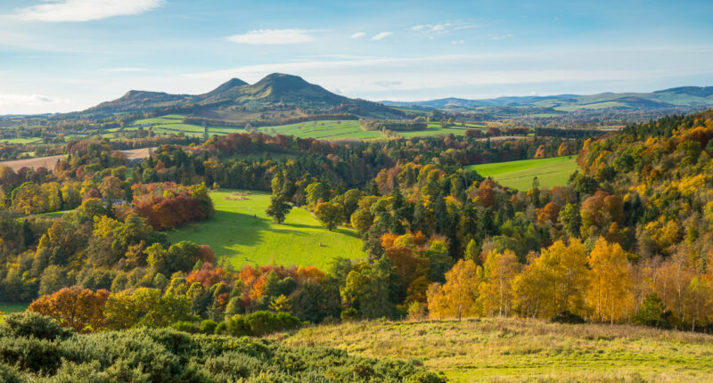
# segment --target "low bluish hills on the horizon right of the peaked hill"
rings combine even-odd
[[[381,102],[395,107],[463,110],[486,107],[529,107],[556,111],[624,108],[635,110],[695,108],[713,105],[713,86],[683,86],[652,93],[603,93],[592,95],[559,94],[551,96],[498,97],[467,100],[444,98],[424,102]]]

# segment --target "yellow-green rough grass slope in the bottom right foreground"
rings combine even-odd
[[[273,338],[350,354],[421,359],[451,381],[711,381],[713,337],[516,319],[352,322]]]

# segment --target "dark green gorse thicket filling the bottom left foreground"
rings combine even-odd
[[[20,314],[27,315],[27,314]],[[12,318],[14,322],[37,321]],[[258,318],[260,318],[258,320]],[[246,322],[265,321],[257,315]],[[287,320],[290,322],[290,320]],[[209,326],[210,327],[210,326]],[[414,363],[350,356],[325,347],[288,347],[258,338],[135,329],[73,334],[54,340],[12,331],[0,335],[3,382],[441,382]]]

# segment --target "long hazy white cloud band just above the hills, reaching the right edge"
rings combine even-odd
[[[439,96],[471,98],[476,92],[483,92],[486,88],[501,92],[500,95],[522,94],[522,89],[527,88],[529,92],[533,86],[543,84],[558,84],[553,89],[561,89],[561,84],[632,84],[648,78],[711,73],[706,62],[713,59],[713,51],[682,51],[676,55],[676,62],[673,63],[652,60],[662,52],[668,52],[668,49],[575,50],[566,53],[519,51],[325,59],[247,65],[234,69],[184,74],[183,77],[184,81],[205,87],[207,82],[219,84],[230,77],[254,82],[268,73],[291,73],[330,90],[340,89],[342,94],[348,96],[384,100],[397,96],[411,99]],[[672,52],[678,53],[675,49]],[[696,59],[693,60],[693,57]],[[438,71],[433,68],[438,68]],[[507,91],[503,91],[505,89]],[[557,92],[571,93],[568,90]]]

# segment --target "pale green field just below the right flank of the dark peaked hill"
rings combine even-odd
[[[359,121],[354,119],[307,121],[283,126],[261,126],[258,131],[265,134],[286,134],[300,138],[316,138],[320,140],[334,140],[352,138],[357,140],[372,140],[383,138],[375,131],[365,131],[359,127]]]

